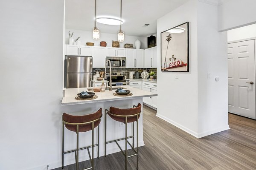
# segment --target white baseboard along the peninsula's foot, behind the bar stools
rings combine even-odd
[[[141,147],[141,146],[145,146],[143,140],[139,141],[139,147]],[[124,144],[120,144],[120,147],[125,148],[125,145]],[[134,147],[136,147],[136,144],[135,144]],[[128,145],[128,149],[131,149],[131,147],[129,145]],[[96,150],[96,147],[95,147],[94,150]],[[110,155],[112,153],[117,153],[117,152],[120,152],[120,149],[117,146],[116,147],[112,147],[112,148],[108,148],[107,155]],[[72,154],[72,153],[70,153],[70,154]],[[99,151],[99,157],[101,157],[101,156],[105,156],[105,151],[104,150],[100,150]],[[94,157],[96,158],[97,155],[94,154]],[[89,156],[88,155],[85,155],[84,153],[83,154],[79,154],[79,162],[87,161],[87,160],[89,160]],[[61,164],[62,164],[61,160],[58,161],[58,162],[52,162],[52,163],[49,164],[48,170],[52,170],[52,169],[61,167]],[[69,165],[69,164],[75,164],[75,157],[73,157],[72,159],[68,159],[68,160],[64,161],[64,166]],[[41,165],[41,166],[37,166],[37,167],[32,167],[32,168],[29,168],[29,169],[26,168],[24,170],[47,170],[47,164]]]

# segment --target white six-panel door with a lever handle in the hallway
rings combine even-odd
[[[229,112],[252,119],[256,119],[254,51],[254,40],[230,43],[227,48]]]

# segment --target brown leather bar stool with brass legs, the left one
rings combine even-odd
[[[102,108],[100,108],[96,113],[83,115],[83,116],[73,116],[67,113],[62,115],[62,169],[64,168],[64,154],[75,152],[76,158],[76,170],[79,170],[79,150],[87,149],[89,153],[89,158],[91,161],[91,167],[84,170],[94,170],[93,166],[93,151],[94,147],[98,148],[98,158],[99,158],[99,123],[102,117]],[[64,151],[64,125],[68,130],[76,132],[76,149]],[[94,144],[94,128],[98,126],[98,143]],[[79,148],[79,132],[87,132],[92,130],[92,145]],[[90,156],[89,148],[92,148],[92,157]]]

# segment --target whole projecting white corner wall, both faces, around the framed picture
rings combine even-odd
[[[187,21],[189,73],[157,70],[157,116],[201,138],[229,129],[227,34],[218,32],[217,6],[190,0],[158,19],[157,36]],[[158,46],[158,68],[160,49]],[[207,79],[207,72],[211,73],[210,79]],[[175,74],[178,74],[178,79],[175,79]],[[219,76],[220,82],[214,82],[214,76]]]

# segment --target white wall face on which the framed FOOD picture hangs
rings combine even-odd
[[[175,79],[175,72],[161,72],[161,47],[157,46],[157,116],[197,136],[197,0],[190,0],[157,20],[157,44],[161,44],[162,31],[187,21],[189,22],[189,72],[178,72],[179,79]]]

